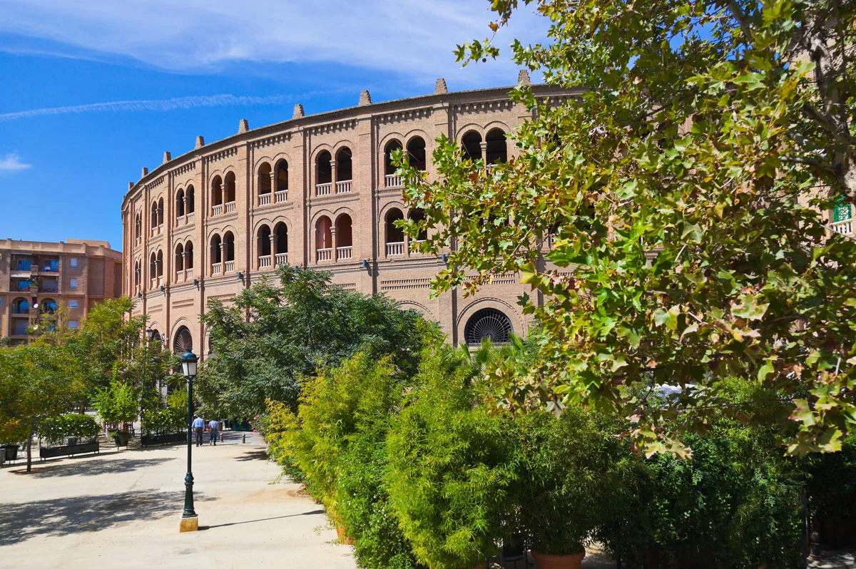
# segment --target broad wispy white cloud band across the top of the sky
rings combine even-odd
[[[455,44],[490,35],[487,0],[4,0],[0,31],[130,56],[174,71],[229,62],[324,62],[388,69],[413,80],[454,76],[510,85],[511,63],[460,67]],[[538,40],[542,18],[520,11],[500,44]],[[0,48],[2,49],[2,48]],[[506,51],[508,53],[508,50]]]

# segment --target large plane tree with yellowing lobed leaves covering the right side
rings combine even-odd
[[[544,295],[521,299],[541,349],[496,370],[505,404],[617,409],[648,453],[687,454],[666,426],[697,429],[722,406],[790,424],[789,453],[840,449],[856,424],[856,243],[826,212],[856,201],[856,4],[493,0],[490,27],[522,4],[550,27],[514,42],[514,61],[574,96],[514,89],[535,118],[508,163],[486,169],[441,139],[436,181],[402,172],[426,214],[407,231],[433,229],[423,252],[451,248],[437,291],[520,272]],[[731,405],[732,375],[786,411]],[[660,384],[685,389],[647,405]]]

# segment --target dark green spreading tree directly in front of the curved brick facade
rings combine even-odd
[[[233,306],[208,305],[202,320],[217,356],[199,373],[202,412],[254,417],[266,399],[296,411],[301,377],[359,351],[395,354],[402,370],[413,370],[425,325],[415,311],[383,296],[344,292],[330,285],[328,272],[286,266],[277,275],[280,287],[263,280]]]

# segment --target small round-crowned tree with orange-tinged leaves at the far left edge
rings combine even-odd
[[[33,436],[45,419],[74,406],[86,386],[64,342],[38,339],[27,346],[0,348],[0,441],[27,445],[33,470]]]

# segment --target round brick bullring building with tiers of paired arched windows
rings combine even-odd
[[[528,82],[521,72],[520,81]],[[137,299],[158,336],[174,350],[208,350],[199,322],[209,299],[228,301],[282,264],[330,270],[333,282],[359,293],[384,293],[439,322],[449,341],[526,333],[516,305],[528,287],[497,278],[478,294],[431,299],[442,256],[410,252],[395,220],[419,216],[401,199],[389,154],[406,149],[411,163],[436,175],[435,140],[445,134],[470,157],[507,160],[506,136],[531,117],[508,87],[449,93],[444,80],[422,97],[294,117],[239,132],[171,158],[129,184],[122,203],[124,293]],[[554,100],[572,93],[534,86]]]

